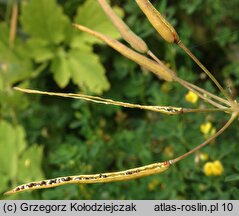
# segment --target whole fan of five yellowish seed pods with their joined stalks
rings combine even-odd
[[[229,120],[226,124],[221,127],[215,134],[205,140],[203,143],[197,145],[195,148],[189,150],[188,152],[180,155],[171,160],[153,163],[133,169],[128,169],[118,172],[108,172],[108,173],[98,173],[89,175],[73,175],[57,177],[48,180],[39,180],[36,182],[26,183],[15,187],[14,189],[6,192],[6,194],[13,194],[17,192],[35,190],[41,188],[51,188],[65,184],[88,184],[88,183],[104,183],[113,181],[123,181],[135,178],[141,178],[144,176],[149,176],[153,174],[158,174],[167,171],[171,166],[178,163],[182,159],[194,154],[199,149],[206,146],[217,136],[223,133],[232,122],[238,117],[239,114],[239,104],[236,100],[227,93],[227,91],[219,84],[216,78],[206,69],[206,67],[191,53],[191,51],[183,44],[178,36],[176,30],[170,25],[170,23],[154,8],[154,6],[148,0],[135,0],[142,12],[146,15],[149,22],[156,29],[156,31],[161,35],[161,37],[172,45],[179,46],[201,69],[206,75],[211,79],[215,86],[220,90],[224,97],[219,97],[215,94],[208,92],[207,90],[198,87],[195,84],[189,83],[186,80],[181,79],[177,74],[168,68],[156,55],[148,48],[147,44],[138,37],[131,29],[116,15],[110,5],[106,0],[98,0],[98,3],[116,26],[120,32],[122,38],[130,45],[130,47],[125,46],[121,42],[112,39],[102,33],[93,31],[85,26],[79,24],[73,24],[73,27],[77,30],[88,33],[107,45],[118,51],[120,54],[129,58],[130,60],[136,62],[141,67],[147,69],[148,71],[154,73],[160,79],[166,82],[177,82],[184,88],[193,92],[199,98],[203,99],[205,102],[213,106],[213,108],[185,108],[185,107],[174,107],[174,106],[147,106],[140,104],[131,104],[121,101],[114,101],[111,99],[101,98],[97,96],[89,96],[84,94],[73,94],[73,93],[55,93],[55,92],[45,92],[31,89],[22,89],[15,87],[16,90],[31,94],[45,94],[50,96],[60,96],[74,99],[82,99],[86,101],[91,101],[101,104],[111,104],[116,106],[123,106],[128,108],[139,108],[150,110],[154,112],[159,112],[166,115],[183,115],[187,113],[202,113],[202,112],[224,112],[229,114]]]

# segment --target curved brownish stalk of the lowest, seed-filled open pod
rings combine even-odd
[[[192,150],[188,151],[187,153],[171,160],[171,163],[172,164],[177,163],[177,162],[181,161],[182,159],[188,157],[189,155],[195,153],[199,149],[203,148],[204,146],[206,146],[208,143],[210,143],[212,140],[214,140],[216,137],[218,137],[222,132],[224,132],[231,125],[231,123],[235,120],[235,118],[237,116],[238,116],[238,112],[232,113],[228,122],[217,133],[215,133],[212,137],[210,137],[209,139],[207,139],[206,141],[204,141],[202,144],[198,145],[197,147],[193,148]]]

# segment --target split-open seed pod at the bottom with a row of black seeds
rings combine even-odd
[[[41,180],[37,182],[30,182],[27,184],[20,185],[5,194],[14,194],[17,192],[57,187],[65,184],[93,184],[93,183],[105,183],[115,181],[125,181],[135,178],[141,178],[153,174],[158,174],[166,171],[171,166],[171,161],[165,161],[162,163],[153,163],[150,165],[129,169],[119,172],[100,173],[92,175],[77,175],[77,176],[66,176],[58,177],[55,179]]]

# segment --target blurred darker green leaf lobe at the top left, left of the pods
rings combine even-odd
[[[59,44],[69,20],[55,0],[31,0],[22,3],[21,23],[31,36]]]

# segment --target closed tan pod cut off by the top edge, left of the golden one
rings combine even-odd
[[[114,12],[114,10],[106,2],[106,0],[98,0],[98,2],[106,15],[118,29],[123,39],[127,41],[135,50],[141,53],[147,53],[149,50],[147,44],[133,31],[131,31],[131,29],[124,23],[124,21],[118,17],[118,15]]]

